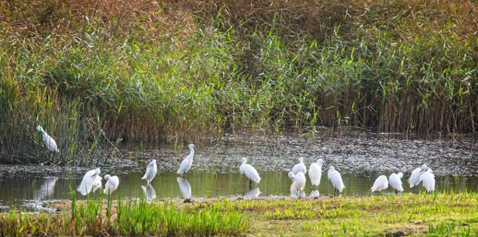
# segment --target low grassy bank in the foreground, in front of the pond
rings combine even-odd
[[[89,205],[87,209],[92,210]],[[478,236],[476,192],[301,200],[199,199],[192,204],[176,204],[177,209],[174,204],[168,208],[167,204],[144,201],[129,204],[128,208],[122,205],[114,204],[113,212],[108,214],[105,211],[103,218],[99,212],[92,215],[75,211],[72,229],[65,224],[70,214],[3,215],[0,217],[0,235]],[[156,212],[162,214],[155,216]],[[124,217],[126,213],[127,217]],[[79,218],[82,215],[88,218]],[[108,219],[107,216],[112,217]],[[58,222],[57,218],[66,221]]]

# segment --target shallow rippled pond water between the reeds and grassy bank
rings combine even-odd
[[[317,190],[306,174],[305,196],[334,193],[325,172],[330,165],[342,174],[344,196],[370,195],[375,178],[382,174],[388,177],[392,172],[403,172],[405,192],[414,192],[406,180],[422,163],[433,169],[437,191],[477,191],[477,145],[473,136],[405,139],[397,134],[326,130],[315,139],[294,134],[247,139],[225,136],[213,145],[196,145],[193,165],[184,177],[176,171],[189,153],[187,146],[175,149],[154,145],[138,149],[128,145],[120,149],[122,158],[110,159],[100,167],[101,176],[118,175],[119,188],[113,197],[121,199],[290,196],[292,181],[287,172],[299,157],[304,157],[307,168],[318,158],[325,161]],[[239,174],[243,157],[261,176],[260,183],[253,183],[250,190],[248,180]],[[158,173],[146,185],[140,178],[152,158],[157,161]],[[48,210],[43,208],[44,203],[71,199],[70,187],[76,188],[84,173],[94,167],[0,165],[0,211],[11,206],[27,211]],[[389,187],[385,192],[393,190]],[[98,191],[95,195],[99,195]],[[76,198],[84,197],[77,193]]]

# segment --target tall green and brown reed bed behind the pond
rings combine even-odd
[[[468,1],[0,8],[2,163],[89,164],[121,140],[179,145],[243,129],[478,131]],[[60,155],[44,152],[37,124]]]

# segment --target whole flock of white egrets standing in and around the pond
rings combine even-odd
[[[36,128],[39,132],[41,132],[43,137],[43,142],[46,145],[48,151],[51,152],[59,152],[58,147],[56,145],[55,140],[51,138],[41,126],[37,126]],[[186,172],[189,171],[191,165],[193,163],[194,157],[194,144],[189,145],[190,153],[189,155],[184,158],[181,162],[177,173],[179,175],[185,175]],[[307,167],[304,164],[304,158],[298,158],[299,163],[295,164],[292,167],[292,171],[288,173],[289,178],[292,180],[292,184],[290,187],[291,193],[297,194],[297,196],[303,196],[302,193],[305,188],[306,184],[306,177],[305,174],[307,173]],[[320,184],[320,179],[322,177],[322,166],[324,165],[323,159],[317,159],[316,162],[313,162],[309,166],[309,179],[312,183],[312,186],[318,187]],[[338,195],[343,191],[345,188],[344,182],[342,181],[342,176],[340,175],[339,171],[337,171],[334,166],[330,166],[327,168],[327,177],[329,178],[330,182],[334,186],[334,195]],[[247,179],[249,179],[249,191],[254,191],[251,189],[252,182],[259,183],[260,176],[257,170],[250,164],[247,163],[246,158],[242,158],[241,164],[239,166],[239,172],[244,174]],[[103,178],[100,176],[101,170],[100,168],[92,169],[86,172],[83,176],[80,186],[77,188],[77,191],[80,192],[82,195],[87,195],[90,192],[95,192],[98,188],[102,187],[102,180]],[[157,173],[157,165],[156,160],[153,159],[148,166],[146,167],[146,172],[141,179],[145,179],[147,182],[147,186],[141,186],[145,193],[148,193],[148,189],[150,189],[149,183],[154,179]],[[380,175],[373,186],[371,187],[371,191],[383,191],[388,188],[388,185],[395,190],[395,193],[403,192],[402,187],[402,180],[403,173],[392,173],[388,179],[385,175]],[[115,191],[119,185],[119,178],[118,176],[111,176],[109,174],[104,176],[105,180],[107,181],[105,184],[104,193],[110,194],[111,192]],[[186,179],[182,177],[178,177],[178,183],[187,182]],[[432,170],[428,168],[426,164],[423,164],[422,167],[416,168],[412,171],[410,178],[408,179],[408,183],[410,184],[410,188],[417,187],[418,192],[418,185],[422,182],[423,187],[427,190],[427,192],[433,192],[435,190],[435,175],[433,174]],[[189,183],[188,183],[189,184]],[[181,185],[180,185],[181,186]],[[181,190],[181,192],[187,196],[191,196],[191,187],[190,185],[183,185],[184,187],[189,186],[189,190]],[[149,187],[149,188],[148,188]],[[183,188],[184,189],[184,188]],[[154,191],[154,189],[152,190]],[[312,191],[311,195],[318,196],[318,190]]]

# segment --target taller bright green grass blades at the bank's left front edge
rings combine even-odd
[[[11,209],[0,215],[0,236],[230,236],[248,232],[249,219],[227,208],[221,201],[178,210],[172,202],[119,200],[114,212],[109,196],[105,213],[101,197],[81,204],[73,198],[71,213],[60,215]]]

